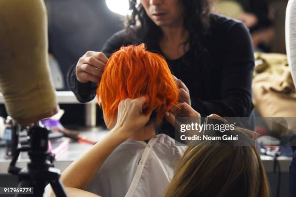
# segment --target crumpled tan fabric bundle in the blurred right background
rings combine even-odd
[[[296,90],[287,56],[256,53],[255,60],[252,91],[256,109],[263,117],[296,117]],[[278,118],[277,122],[284,122],[280,124],[293,130],[296,128],[295,120]],[[271,128],[272,123],[267,124]],[[281,136],[282,128],[272,127],[272,132]]]

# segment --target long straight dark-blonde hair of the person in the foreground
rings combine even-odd
[[[237,131],[237,135],[245,134]],[[165,197],[269,197],[257,148],[204,141],[189,146]]]

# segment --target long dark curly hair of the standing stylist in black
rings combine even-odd
[[[201,64],[204,65],[205,59],[208,58],[207,49],[203,46],[206,42],[205,35],[208,33],[209,15],[211,0],[182,0],[184,6],[184,28],[188,31],[189,36],[184,43],[189,43],[189,53],[191,56],[200,57]],[[137,4],[137,0],[129,0],[132,15],[127,18],[127,29],[135,29],[136,35],[141,42],[146,44],[158,44],[163,36],[162,29],[157,26],[148,16],[141,3]],[[149,46],[148,46],[149,49]],[[192,62],[186,62],[191,64]],[[203,66],[207,72],[206,66]]]

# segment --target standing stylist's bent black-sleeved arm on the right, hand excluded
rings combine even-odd
[[[225,39],[222,59],[221,99],[191,98],[192,107],[201,114],[216,113],[224,117],[248,117],[252,113],[252,77],[254,56],[252,40],[247,28],[236,24]]]

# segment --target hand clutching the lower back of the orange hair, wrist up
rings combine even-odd
[[[134,132],[143,128],[148,122],[151,113],[145,115],[146,108],[144,97],[125,99],[118,105],[117,123],[115,128],[120,130],[120,135],[128,139]]]

